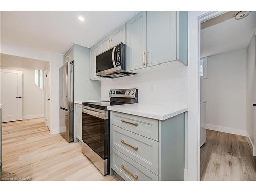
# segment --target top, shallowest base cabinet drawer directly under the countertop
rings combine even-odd
[[[158,120],[111,111],[110,123],[158,141]]]

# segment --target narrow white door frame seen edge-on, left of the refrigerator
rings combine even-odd
[[[46,126],[48,127],[49,131],[51,131],[51,101],[48,101],[48,97],[51,96],[51,68],[50,68],[50,64],[46,67],[46,119],[50,119],[50,123],[48,120],[45,119],[46,121]],[[49,83],[49,87],[48,87],[48,83]],[[48,109],[48,102],[50,102],[49,104],[49,109]]]

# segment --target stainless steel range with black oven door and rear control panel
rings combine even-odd
[[[108,106],[138,102],[138,89],[114,89],[110,101],[83,103],[82,152],[103,175],[110,170],[110,121]]]

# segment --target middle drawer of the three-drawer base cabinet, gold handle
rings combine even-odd
[[[158,142],[110,125],[110,145],[158,175]]]

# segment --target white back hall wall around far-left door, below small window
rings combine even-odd
[[[23,119],[44,117],[44,91],[35,85],[35,70],[8,66],[1,68],[23,73]]]

